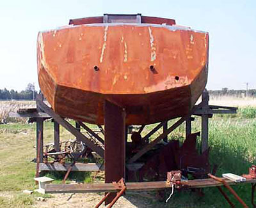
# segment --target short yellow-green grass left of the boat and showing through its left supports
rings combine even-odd
[[[44,142],[52,142],[52,123],[45,122]],[[50,195],[25,195],[24,189],[36,189],[35,163],[31,162],[36,157],[35,152],[35,124],[8,123],[0,125],[0,207],[31,207],[35,204],[36,197],[50,197]],[[60,128],[63,140],[73,138],[63,128]],[[60,183],[65,173],[49,173],[47,176]],[[79,172],[70,174],[68,179],[92,182],[90,173]]]

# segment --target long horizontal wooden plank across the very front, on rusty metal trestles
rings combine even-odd
[[[223,179],[223,178],[222,178]],[[254,183],[256,179],[236,183],[225,179],[229,185]],[[125,183],[127,191],[156,191],[161,189],[170,189],[170,184],[166,181],[154,182],[127,182]],[[223,186],[221,182],[214,179],[196,179],[182,182],[186,188],[207,188]],[[46,184],[45,193],[94,193],[94,192],[116,192],[118,191],[112,183],[105,184]]]

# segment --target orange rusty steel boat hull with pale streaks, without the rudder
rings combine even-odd
[[[104,100],[126,124],[186,115],[207,82],[208,33],[156,24],[88,24],[38,34],[38,80],[63,117],[104,123]]]

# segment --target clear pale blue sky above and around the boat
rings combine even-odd
[[[38,31],[65,26],[69,19],[104,13],[141,13],[175,19],[209,32],[207,89],[256,89],[256,1],[0,1],[0,89],[38,90]]]

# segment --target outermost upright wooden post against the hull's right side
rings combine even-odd
[[[202,110],[209,109],[209,93],[205,89],[202,93]],[[208,149],[208,125],[209,125],[209,115],[208,114],[202,114],[202,141],[201,141],[201,152],[204,152]]]

